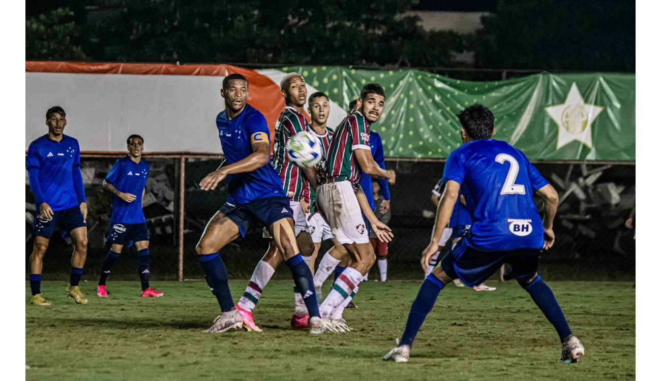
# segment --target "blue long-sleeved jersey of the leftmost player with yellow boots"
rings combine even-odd
[[[80,164],[80,146],[73,137],[62,135],[58,142],[44,135],[30,143],[25,165],[36,210],[42,203],[61,211],[85,202]]]

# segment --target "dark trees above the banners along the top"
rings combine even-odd
[[[444,5],[445,4],[445,5]],[[481,4],[482,8],[481,9]],[[433,6],[432,6],[433,5]],[[489,11],[474,34],[412,9]],[[463,8],[462,8],[463,7]],[[611,0],[50,0],[26,3],[26,58],[635,70],[635,3]]]

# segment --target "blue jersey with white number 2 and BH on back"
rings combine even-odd
[[[480,139],[447,157],[442,184],[461,184],[473,224],[467,244],[483,252],[541,248],[544,231],[533,195],[549,184],[524,153]]]

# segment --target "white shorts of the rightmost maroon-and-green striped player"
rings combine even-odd
[[[369,242],[369,232],[350,182],[321,184],[317,188],[317,204],[323,218],[331,226],[332,235],[340,244]]]

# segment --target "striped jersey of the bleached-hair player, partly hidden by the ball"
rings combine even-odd
[[[282,189],[292,201],[310,202],[310,183],[305,180],[301,168],[287,157],[285,147],[290,137],[301,131],[310,131],[310,127],[302,114],[295,108],[287,106],[276,122],[276,133],[273,139],[273,167],[282,180]]]

